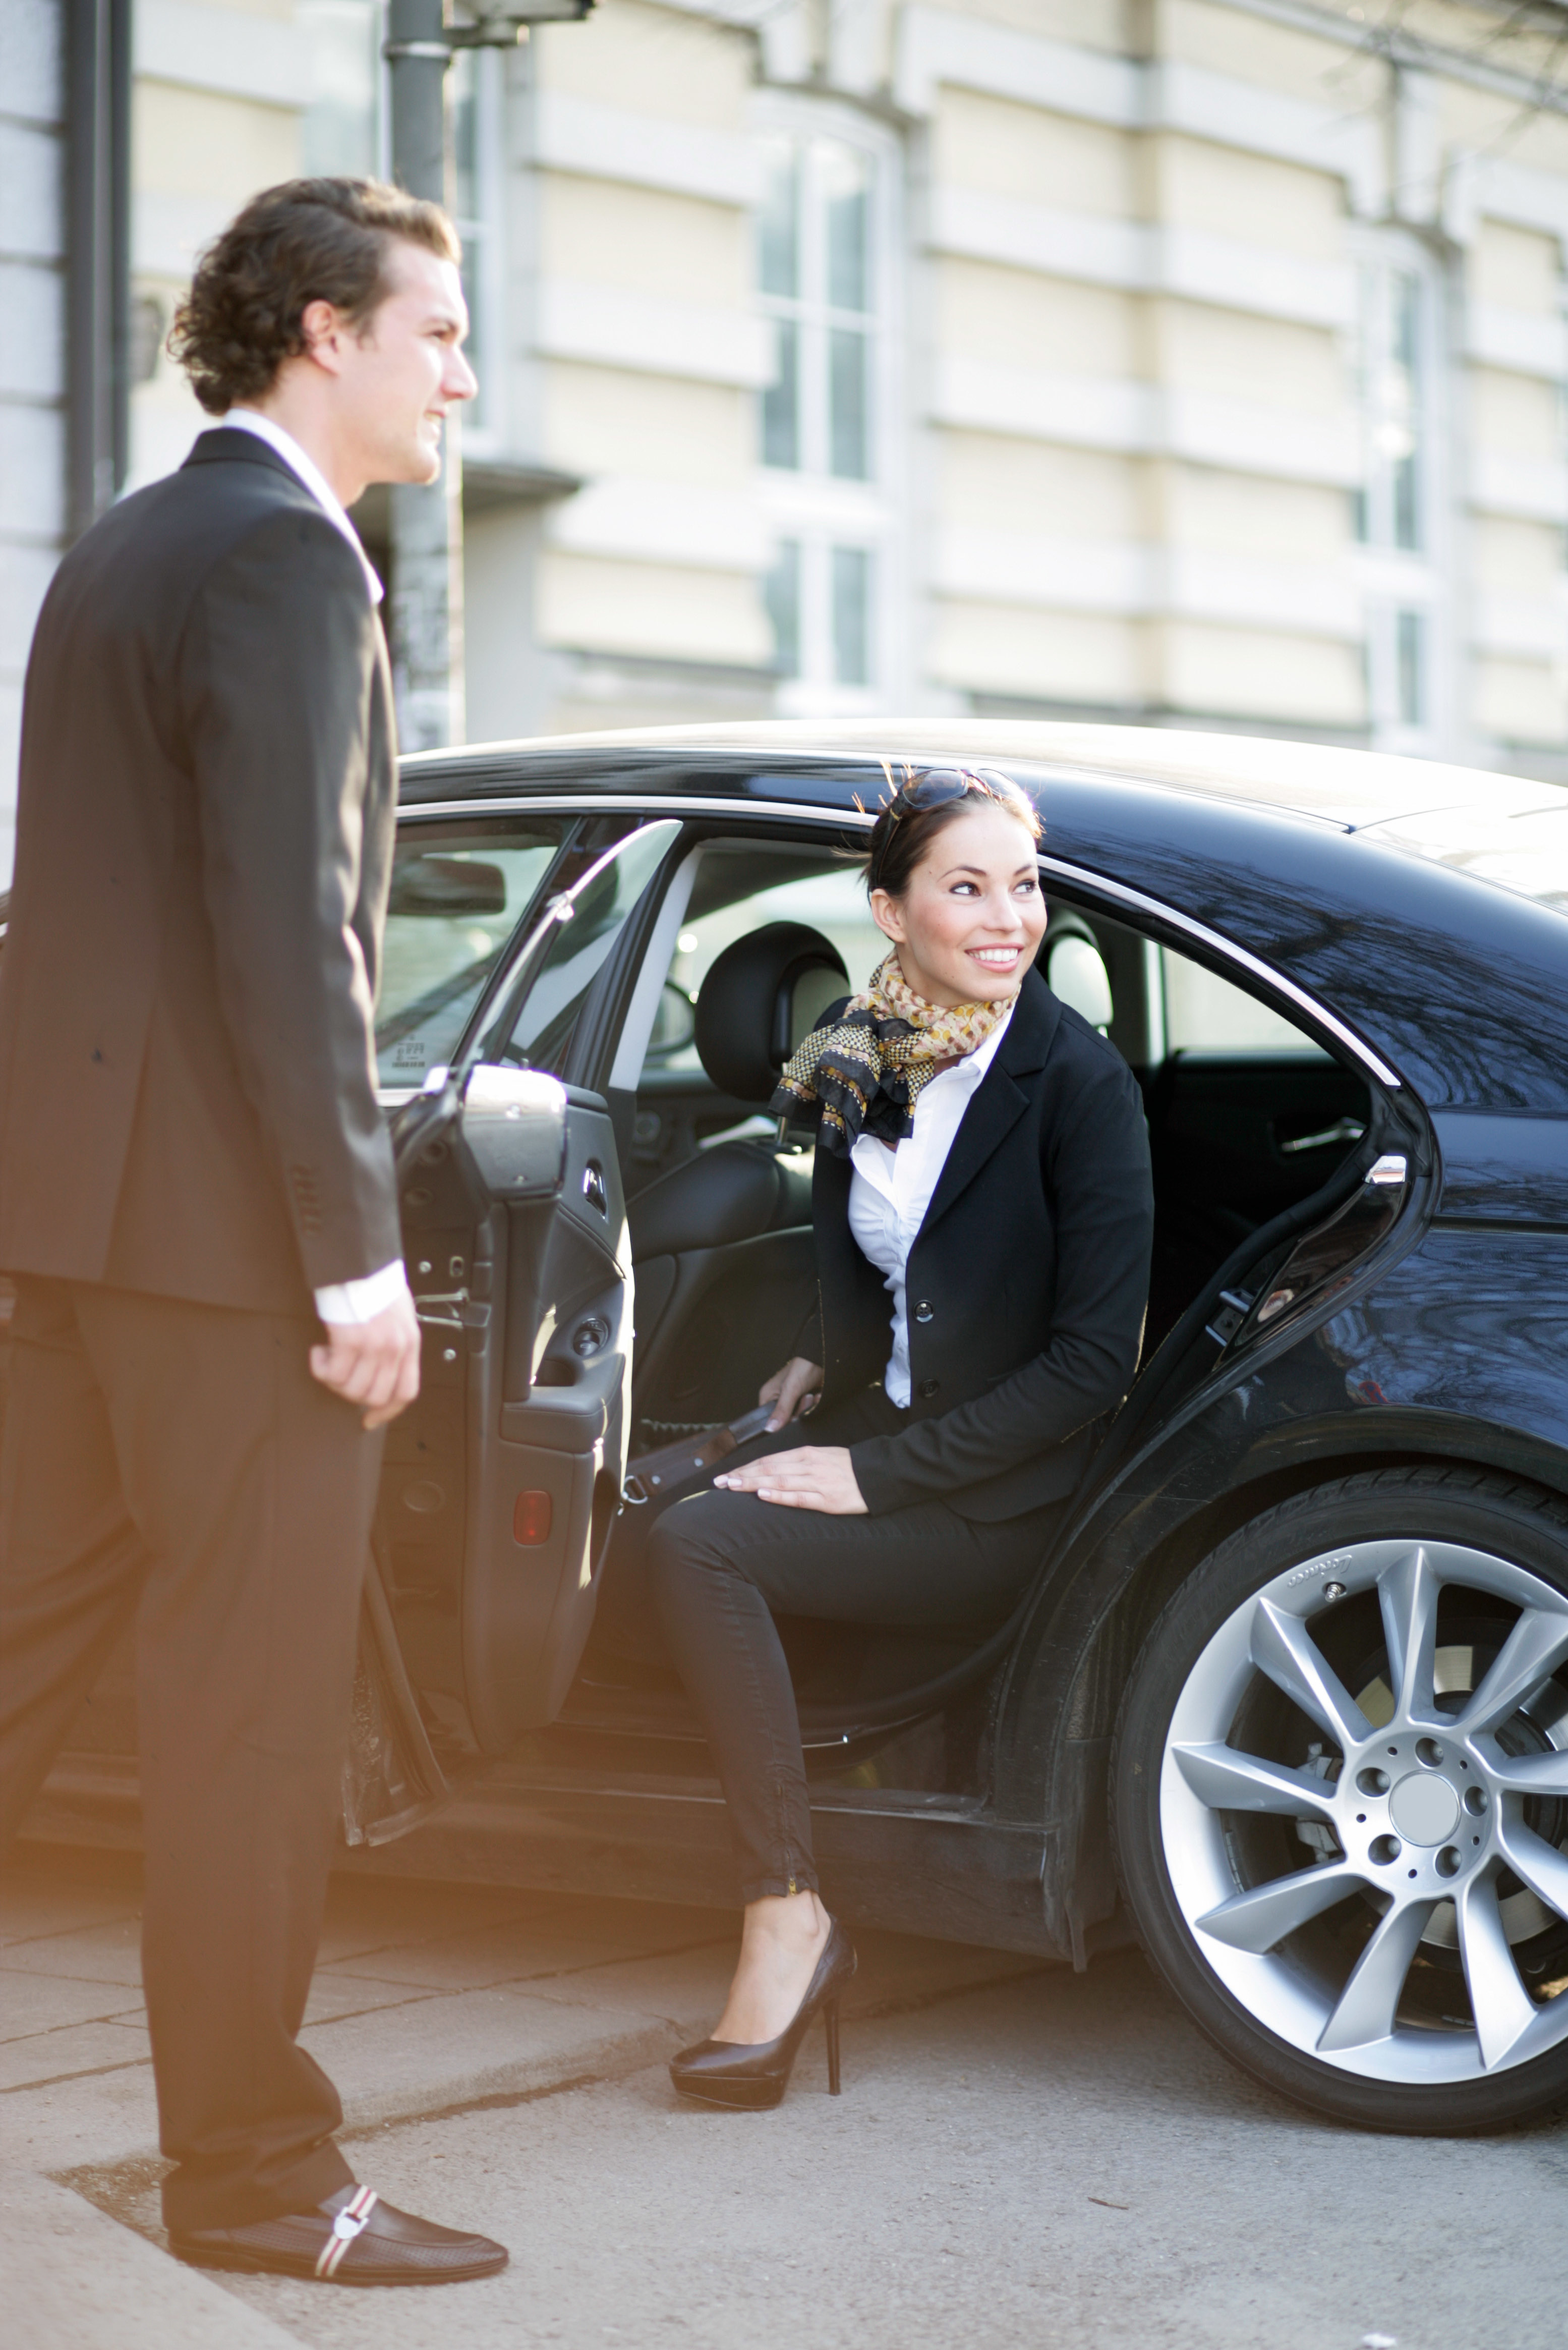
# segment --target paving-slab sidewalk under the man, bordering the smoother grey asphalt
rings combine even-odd
[[[28,1845],[0,1899],[7,2350],[280,2350],[299,2336],[148,2242],[160,2162],[139,1904],[134,1859]],[[722,1911],[339,1878],[306,2044],[350,2143],[625,2080],[712,2021],[736,1929]],[[846,2012],[1030,1972],[1004,1950],[867,1934]]]

